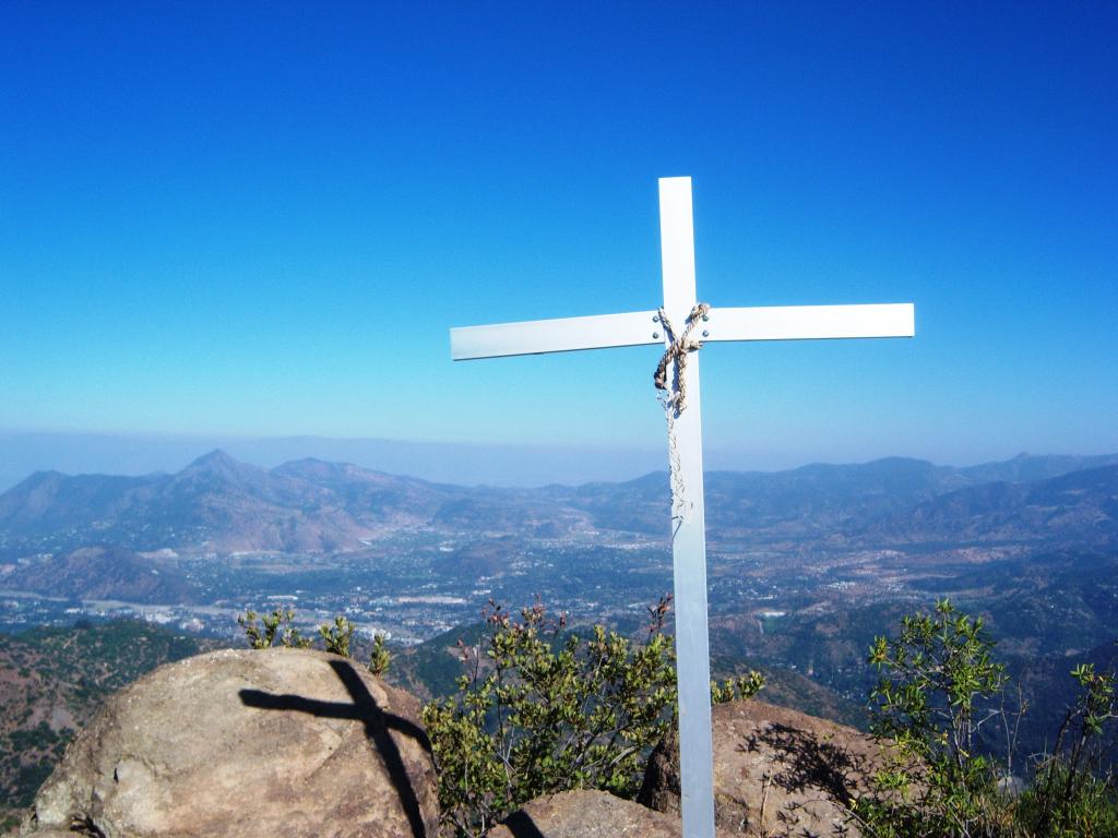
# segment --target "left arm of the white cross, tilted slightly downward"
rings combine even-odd
[[[655,314],[629,312],[499,323],[492,326],[461,326],[451,330],[451,359],[470,361],[475,358],[663,344],[663,336],[659,334],[663,330],[652,320]]]

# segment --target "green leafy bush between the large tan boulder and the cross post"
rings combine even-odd
[[[518,806],[566,789],[637,791],[675,706],[666,601],[650,609],[643,645],[601,626],[563,637],[566,617],[549,619],[540,602],[519,620],[490,603],[483,645],[461,646],[470,672],[457,696],[424,708],[448,828],[481,836]]]

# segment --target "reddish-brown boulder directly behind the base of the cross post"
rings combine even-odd
[[[850,802],[883,764],[864,733],[758,701],[713,708],[714,812],[720,829],[765,836],[858,836]],[[680,811],[680,747],[670,733],[648,761],[637,796]]]

